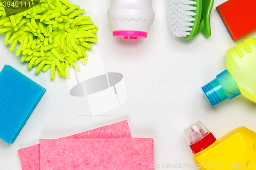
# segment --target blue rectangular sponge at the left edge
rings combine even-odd
[[[46,89],[5,65],[0,72],[0,138],[13,143]]]

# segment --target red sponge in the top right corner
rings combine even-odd
[[[256,30],[256,0],[229,0],[217,10],[233,40]]]

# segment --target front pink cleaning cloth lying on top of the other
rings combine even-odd
[[[154,139],[41,139],[41,170],[154,169]]]

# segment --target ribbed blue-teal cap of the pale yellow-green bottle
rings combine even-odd
[[[212,107],[241,94],[236,81],[228,70],[221,72],[216,79],[203,86],[202,90]]]

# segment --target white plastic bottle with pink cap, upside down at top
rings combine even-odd
[[[154,22],[152,0],[112,0],[108,20],[114,37],[146,38]]]

